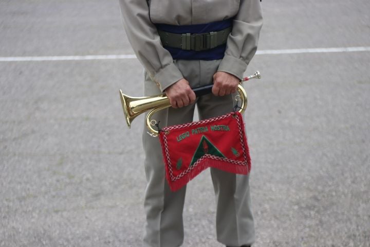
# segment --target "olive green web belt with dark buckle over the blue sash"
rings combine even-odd
[[[195,51],[209,50],[226,44],[230,32],[231,27],[217,32],[182,34],[158,30],[163,46]]]

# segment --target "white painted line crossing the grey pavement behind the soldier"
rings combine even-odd
[[[256,55],[282,55],[282,54],[353,52],[353,51],[370,51],[370,46],[257,50]],[[77,61],[77,60],[110,60],[110,59],[136,59],[136,56],[135,55],[88,55],[88,56],[44,56],[44,57],[0,57],[0,62],[68,61],[68,60]]]

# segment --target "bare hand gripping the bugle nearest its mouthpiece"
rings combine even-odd
[[[236,92],[240,80],[234,75],[218,71],[213,75],[212,93],[215,96],[224,96]]]

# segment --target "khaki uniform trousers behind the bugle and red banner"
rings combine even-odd
[[[176,60],[175,64],[192,88],[212,84],[221,60]],[[157,84],[145,73],[145,96],[161,94]],[[234,95],[235,96],[235,95]],[[191,122],[195,105],[199,119],[207,119],[229,113],[233,110],[233,95],[214,96],[208,94],[198,97],[196,104],[183,108],[168,108],[154,115],[160,127]],[[145,190],[144,209],[146,224],[144,232],[145,247],[175,247],[183,242],[182,210],[186,186],[172,192],[165,180],[165,168],[158,137],[143,131],[145,152]],[[241,246],[254,242],[254,224],[251,211],[249,175],[228,173],[211,168],[211,177],[216,196],[216,234],[217,240],[228,246]]]

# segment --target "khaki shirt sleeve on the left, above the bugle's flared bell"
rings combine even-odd
[[[119,0],[123,25],[136,57],[163,92],[183,78],[170,52],[163,48],[157,28],[150,20],[146,0]]]

